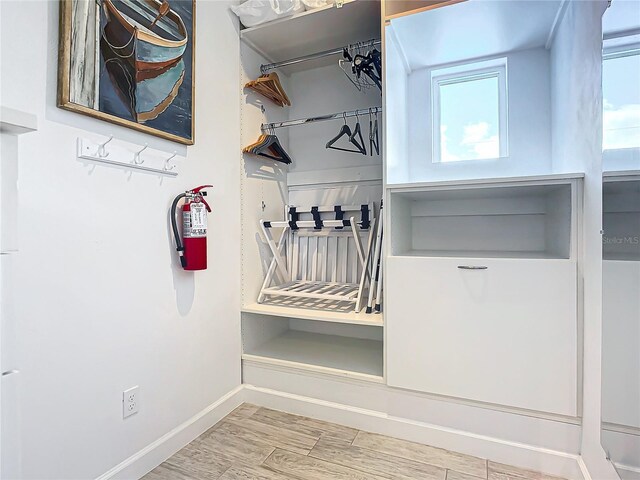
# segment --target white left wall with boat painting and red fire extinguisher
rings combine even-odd
[[[58,2],[1,8],[1,103],[39,117],[39,131],[20,139],[20,252],[8,295],[23,476],[95,478],[241,381],[237,25],[227,1],[198,1],[196,144],[184,148],[57,109]],[[179,177],[76,160],[77,136],[110,133],[186,153]],[[168,209],[203,183],[214,185],[209,269],[186,273]],[[133,385],[140,412],[123,420],[122,391]]]

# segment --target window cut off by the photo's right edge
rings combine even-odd
[[[602,149],[640,148],[640,45],[605,53],[602,93]]]

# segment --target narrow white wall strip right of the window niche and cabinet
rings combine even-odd
[[[556,172],[583,171],[582,455],[593,478],[617,478],[600,446],[602,351],[602,14],[607,2],[569,2],[551,47]]]

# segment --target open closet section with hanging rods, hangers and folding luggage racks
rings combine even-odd
[[[258,365],[383,381],[384,315],[367,313],[382,199],[382,93],[369,61],[380,11],[345,1],[240,32],[243,145],[275,135],[292,160],[242,158],[245,375]],[[290,106],[244,88],[270,73]]]

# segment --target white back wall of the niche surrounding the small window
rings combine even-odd
[[[512,52],[507,58],[509,156],[498,160],[432,161],[431,67],[409,75],[409,177],[412,182],[549,173],[551,105],[549,52]],[[475,60],[470,59],[469,62]]]

